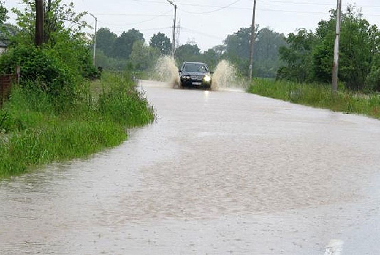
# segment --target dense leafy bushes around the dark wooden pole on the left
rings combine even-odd
[[[35,81],[35,86],[55,96],[73,101],[83,78],[96,78],[92,65],[90,41],[82,33],[86,13],[74,12],[73,3],[44,1],[44,44],[34,46],[35,7],[23,0],[25,8],[17,14],[17,30],[10,38],[8,52],[0,57],[0,70],[12,73],[21,66],[21,83]],[[70,22],[70,26],[65,25]]]

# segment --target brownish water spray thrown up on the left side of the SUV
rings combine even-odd
[[[165,81],[173,88],[179,88],[180,86],[178,68],[171,56],[162,56],[157,60],[152,76],[151,78],[154,80]]]

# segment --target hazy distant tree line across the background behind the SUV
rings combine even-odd
[[[253,72],[260,77],[275,77],[281,65],[279,48],[286,45],[285,36],[269,28],[257,30],[255,41],[255,64]],[[184,61],[198,61],[214,69],[222,59],[232,62],[242,75],[248,73],[251,28],[241,28],[229,35],[221,45],[204,52],[196,44],[182,44],[175,51],[177,65]],[[172,52],[171,40],[164,33],[157,33],[145,42],[144,35],[136,29],[123,32],[120,36],[100,28],[97,32],[97,64],[106,68],[131,68],[145,71],[152,68],[155,59]]]

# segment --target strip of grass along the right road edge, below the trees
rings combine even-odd
[[[265,79],[254,80],[248,92],[301,105],[380,119],[380,94],[364,95],[340,89],[336,95],[332,95],[331,87],[323,84]]]

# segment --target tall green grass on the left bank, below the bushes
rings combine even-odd
[[[70,104],[33,84],[14,88],[0,110],[0,179],[119,145],[126,128],[154,119],[133,86],[128,75],[104,73]]]

